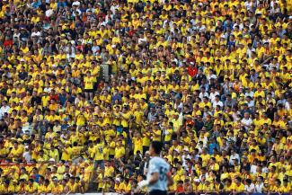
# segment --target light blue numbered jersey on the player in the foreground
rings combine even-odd
[[[147,180],[150,180],[153,173],[159,173],[159,179],[152,185],[148,186],[149,191],[167,191],[167,176],[170,165],[163,158],[153,157],[149,161]]]

